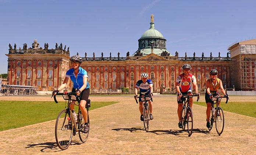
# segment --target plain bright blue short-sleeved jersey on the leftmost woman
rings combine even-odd
[[[70,80],[73,82],[73,88],[80,89],[83,85],[83,78],[88,78],[88,75],[87,75],[87,71],[82,69],[82,67],[79,67],[77,78],[75,77],[73,68],[67,71],[65,77],[70,78]],[[85,89],[87,88],[90,88],[88,81]]]

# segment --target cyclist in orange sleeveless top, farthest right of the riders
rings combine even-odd
[[[220,88],[221,92],[226,95],[226,92],[223,88],[222,81],[217,78],[218,71],[216,69],[212,69],[210,71],[211,78],[206,81],[206,93],[205,93],[205,102],[207,105],[206,109],[206,127],[210,128],[210,113],[211,113],[211,98],[212,96],[221,96],[218,93],[218,89]],[[220,102],[219,102],[220,104]]]

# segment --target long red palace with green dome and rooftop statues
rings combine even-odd
[[[176,77],[183,73],[182,65],[192,66],[191,73],[195,75],[199,91],[205,88],[205,82],[210,78],[211,69],[218,70],[218,77],[226,88],[235,87],[236,90],[256,90],[256,39],[235,43],[228,48],[226,57],[202,56],[181,57],[178,52],[170,53],[166,49],[166,39],[154,28],[151,15],[150,28],[138,40],[138,50],[125,57],[117,56],[92,57],[81,56],[81,67],[88,72],[88,81],[92,91],[117,90],[121,87],[134,91],[140,74],[146,72],[153,82],[153,89],[157,92],[175,92]],[[8,77],[9,85],[36,86],[40,91],[52,91],[64,80],[65,73],[71,68],[70,51],[56,43],[55,49],[39,47],[34,40],[32,48],[16,49],[9,44]],[[79,53],[77,53],[79,54]],[[100,55],[100,53],[97,53]],[[122,53],[125,55],[125,53]],[[72,88],[70,82],[67,89]]]

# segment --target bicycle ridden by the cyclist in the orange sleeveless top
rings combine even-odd
[[[226,98],[226,104],[228,103],[229,97],[226,96],[212,96],[211,98],[211,118],[210,118],[210,128],[209,131],[213,128],[213,123],[215,122],[215,128],[220,135],[224,130],[224,113],[221,107],[219,107],[219,103],[222,98]],[[214,102],[215,101],[215,102]],[[214,104],[216,104],[216,108],[214,108]]]

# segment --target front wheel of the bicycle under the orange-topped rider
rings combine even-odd
[[[215,115],[216,115],[216,118],[215,118],[216,131],[220,135],[224,129],[224,114],[221,107],[216,108]]]

